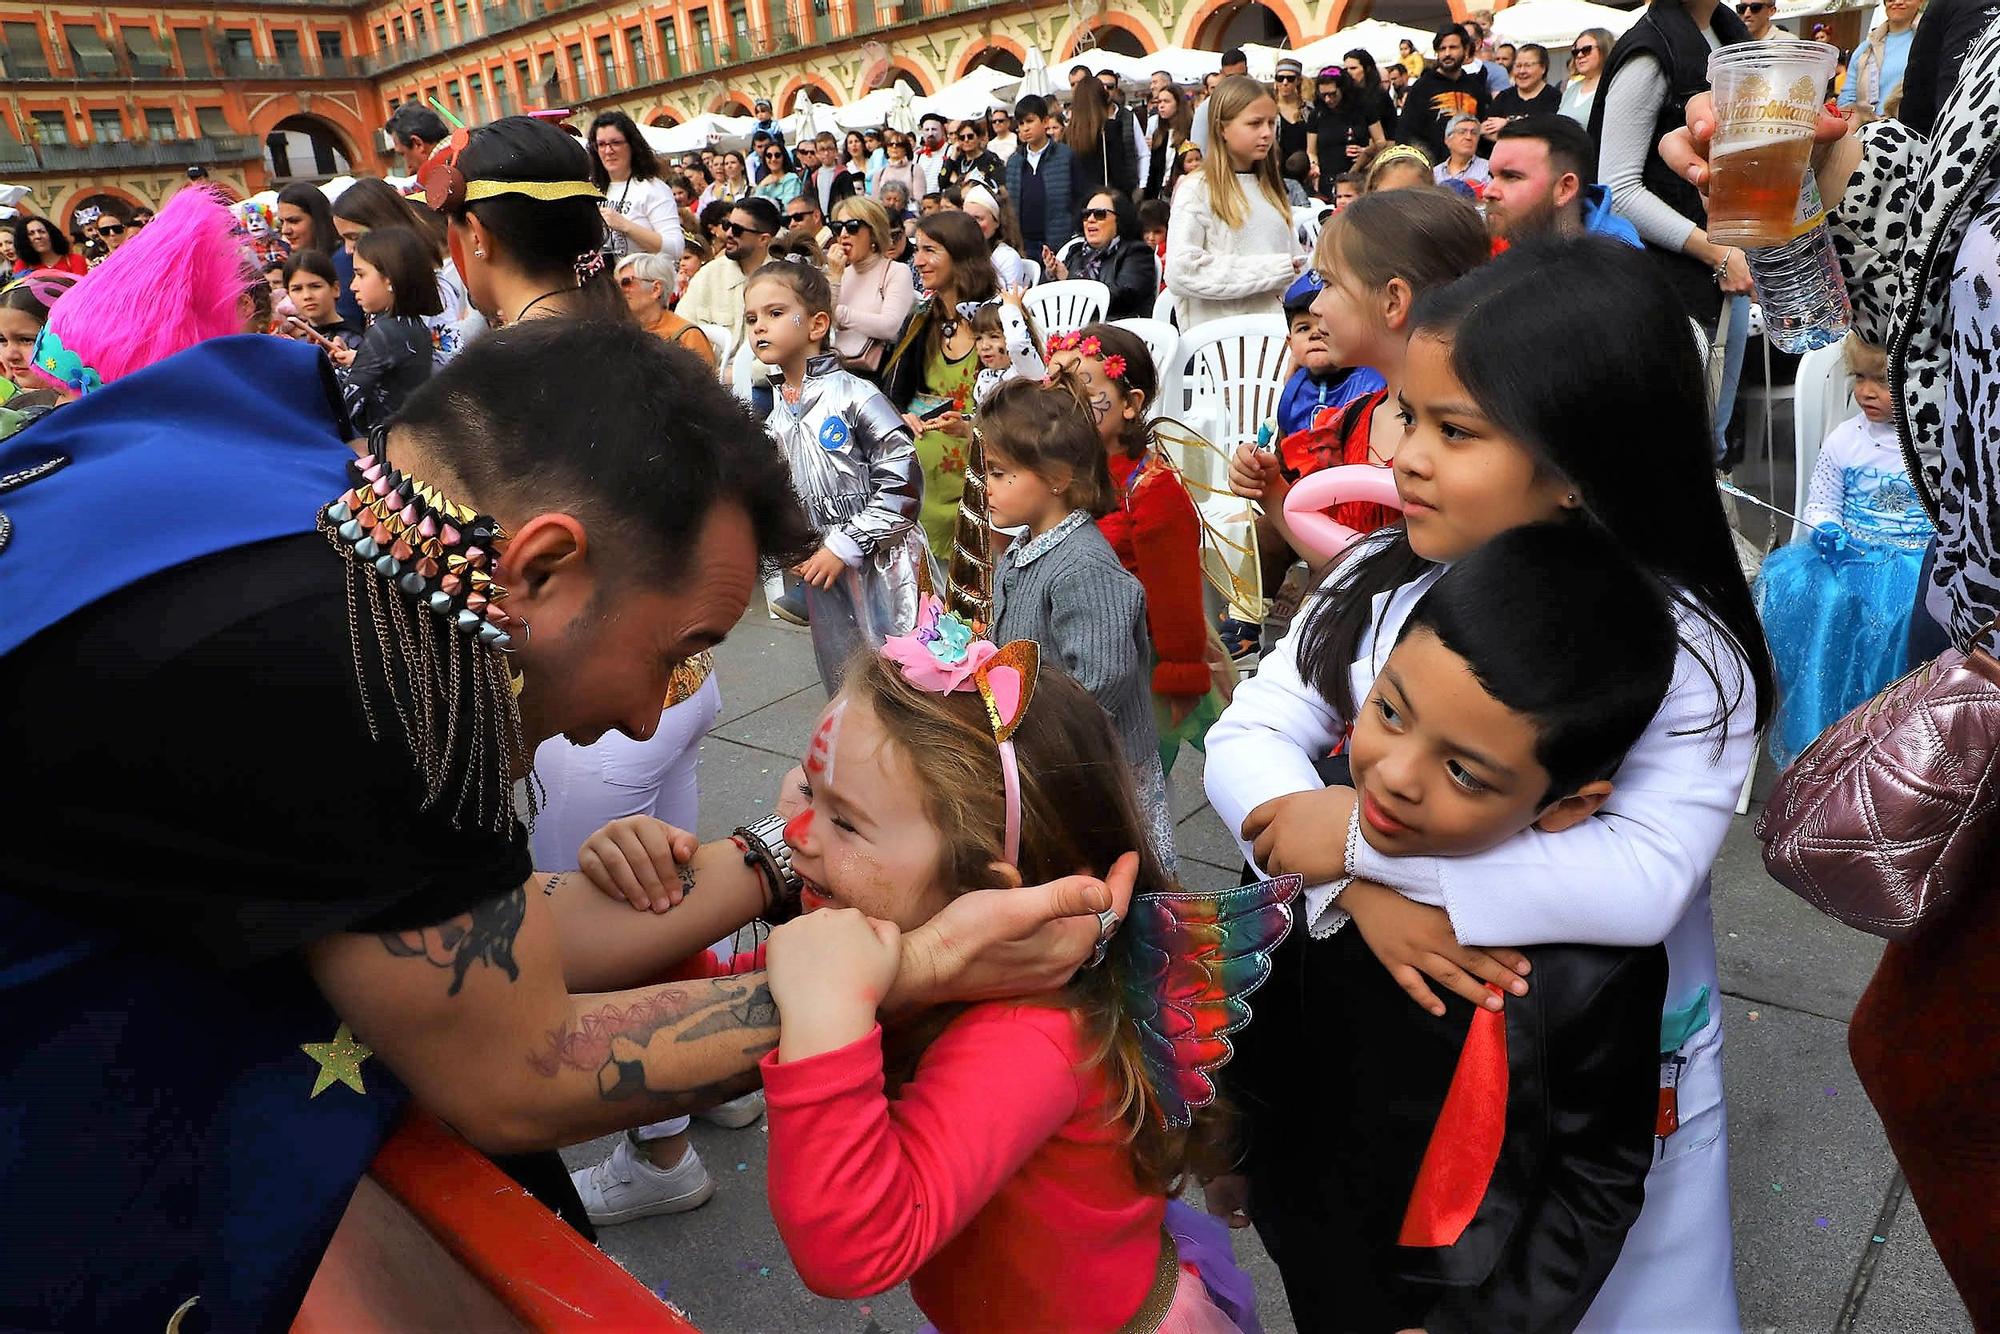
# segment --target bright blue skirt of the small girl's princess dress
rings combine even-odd
[[[1780,766],[1908,670],[1922,564],[1922,548],[1864,546],[1828,560],[1812,542],[1764,560],[1756,598],[1778,666],[1770,756]]]

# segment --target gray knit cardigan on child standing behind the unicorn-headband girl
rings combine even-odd
[[[1034,640],[1112,716],[1126,762],[1158,764],[1146,590],[1084,510],[1016,542],[994,570],[994,644]]]

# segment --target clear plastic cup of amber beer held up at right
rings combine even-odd
[[[1716,114],[1708,240],[1764,250],[1818,222],[1818,194],[1806,192],[1804,180],[1836,58],[1826,42],[1794,40],[1740,42],[1708,58]]]

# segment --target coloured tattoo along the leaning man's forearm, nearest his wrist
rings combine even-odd
[[[756,1060],[778,1046],[778,1006],[758,974],[724,978],[716,986],[666,986],[630,1004],[608,1002],[576,1024],[550,1032],[544,1050],[528,1056],[542,1078],[564,1068],[598,1076],[598,1096],[698,1100],[704,1088],[674,1082],[672,1048],[726,1034],[742,1036],[742,1056]],[[754,1086],[754,1082],[752,1082]]]

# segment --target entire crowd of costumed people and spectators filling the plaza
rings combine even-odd
[[[586,1236],[768,1116],[806,1284],[940,1330],[1256,1330],[1246,1226],[1300,1328],[1740,1328],[1710,868],[1760,738],[2000,610],[2000,22],[1946,60],[1910,0],[1818,128],[1860,412],[1744,574],[1688,326],[1750,288],[1702,68],[1768,10],[678,160],[404,106],[336,198],[16,218],[0,1324],[288,1326],[416,1104]],[[1042,328],[1062,280],[1102,314]],[[1288,350],[1226,468],[1268,622],[1134,324],[1230,316]],[[1330,470],[1394,494],[1340,552]],[[826,706],[704,844],[764,576]],[[1176,878],[1184,744],[1242,888]],[[1978,1322],[2000,1072],[1920,1034],[2000,1018],[1994,902],[1854,1030]]]

